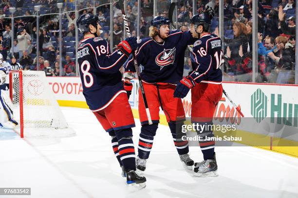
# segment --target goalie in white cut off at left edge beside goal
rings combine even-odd
[[[11,69],[7,66],[10,64],[3,62],[3,56],[0,54],[0,86],[6,82],[7,73]],[[4,67],[5,66],[5,67]],[[8,81],[7,81],[8,82]],[[5,86],[6,87],[6,86]],[[11,109],[12,102],[10,98],[5,94],[3,89],[0,90],[0,128],[14,128],[18,123],[13,119],[13,111]]]

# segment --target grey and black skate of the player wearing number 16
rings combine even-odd
[[[213,160],[204,160],[202,162],[195,163],[195,168],[193,171],[194,175],[199,177],[217,176],[217,162],[215,153],[213,155]]]

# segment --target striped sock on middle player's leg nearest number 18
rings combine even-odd
[[[142,159],[148,159],[152,148],[154,137],[140,133],[138,156]]]

